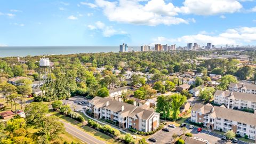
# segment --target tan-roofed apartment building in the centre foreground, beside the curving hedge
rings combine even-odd
[[[152,109],[145,109],[129,103],[109,98],[95,97],[89,101],[89,111],[95,118],[105,118],[118,122],[119,127],[150,132],[159,126],[159,113]]]

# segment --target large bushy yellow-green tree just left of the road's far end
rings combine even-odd
[[[25,107],[26,122],[39,126],[46,113],[48,113],[47,105],[44,103],[31,102]]]

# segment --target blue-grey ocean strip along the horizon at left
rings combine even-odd
[[[129,46],[139,51],[139,46]],[[57,55],[75,53],[118,52],[119,46],[4,46],[0,47],[0,57],[26,57],[27,55]]]

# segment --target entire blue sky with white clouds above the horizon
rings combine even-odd
[[[256,0],[0,0],[0,46],[256,45]]]

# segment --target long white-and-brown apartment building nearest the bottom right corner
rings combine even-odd
[[[256,114],[244,111],[228,109],[225,106],[217,107],[211,104],[196,103],[191,108],[190,120],[195,123],[203,123],[210,130],[233,130],[242,137],[248,135],[255,140]]]

